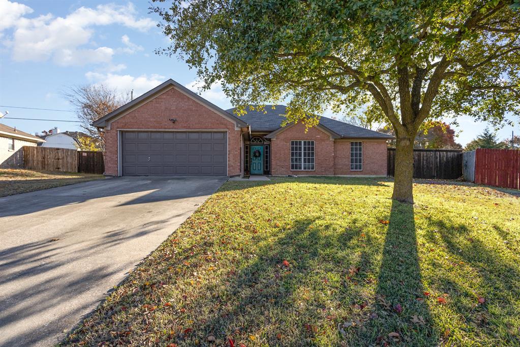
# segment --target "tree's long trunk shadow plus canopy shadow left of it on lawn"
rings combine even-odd
[[[346,229],[316,217],[283,227],[279,234],[253,233],[247,240],[257,243],[254,252],[230,250],[241,259],[236,266],[223,260],[225,271],[212,277],[204,272],[206,265],[191,261],[213,256],[221,236],[179,250],[174,259],[162,248],[154,257],[162,260],[145,277],[150,284],[134,294],[131,277],[123,297],[107,303],[69,342],[81,341],[90,327],[108,325],[121,333],[114,336],[101,328],[89,343],[210,345],[213,337],[217,345],[229,345],[231,338],[237,346],[392,344],[397,339],[408,345],[437,344],[428,308],[417,300],[423,289],[412,205],[393,202],[384,246],[384,226],[381,234],[365,235],[365,225],[357,220]],[[188,268],[175,273],[183,264]],[[175,290],[149,289],[163,281]],[[209,284],[202,288],[198,281]],[[142,310],[145,304],[159,309]],[[121,305],[133,305],[138,313],[124,318]],[[415,323],[412,316],[417,316]],[[388,336],[391,332],[398,337]]]

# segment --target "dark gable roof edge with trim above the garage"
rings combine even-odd
[[[108,113],[104,117],[99,118],[98,120],[94,121],[92,123],[92,125],[98,126],[98,127],[105,127],[105,126],[108,125],[107,122],[109,123],[110,120],[112,120],[113,118],[116,118],[120,114],[124,113],[125,111],[128,111],[128,110],[132,109],[132,107],[138,105],[142,101],[146,101],[147,99],[152,99],[155,94],[158,94],[158,93],[162,92],[163,89],[168,88],[168,87],[176,88],[181,93],[183,93],[183,94],[191,97],[192,99],[200,102],[204,106],[214,110],[215,112],[219,113],[223,117],[225,117],[225,118],[227,118],[229,120],[235,121],[239,126],[244,126],[244,127],[248,126],[248,124],[246,124],[243,120],[238,118],[236,115],[228,113],[227,111],[221,109],[220,107],[218,107],[216,105],[213,105],[210,101],[207,101],[206,99],[204,99],[200,95],[197,95],[196,93],[193,93],[192,91],[190,91],[190,89],[188,89],[185,86],[175,82],[172,79],[167,80],[166,82],[164,82],[164,83],[160,84],[159,86],[153,88],[151,91],[149,91],[149,92],[147,92],[147,93],[145,93],[145,94],[135,98],[134,100],[132,100],[130,102],[127,102],[125,105],[123,105],[120,108],[118,108],[118,109]]]

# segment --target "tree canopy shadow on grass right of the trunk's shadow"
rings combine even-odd
[[[489,231],[472,230],[449,217],[430,218],[428,222],[435,231],[426,238],[454,260],[446,264],[445,257],[440,257],[432,264],[446,269],[439,273],[436,289],[448,294],[450,306],[446,310],[458,322],[446,328],[456,339],[471,334],[479,340],[498,338],[504,345],[520,345],[520,323],[515,318],[520,310],[520,257],[509,242],[503,241],[511,233],[493,225],[494,239]],[[484,304],[478,302],[480,297]]]

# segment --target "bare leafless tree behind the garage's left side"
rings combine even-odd
[[[101,150],[105,151],[105,133],[91,124],[130,101],[128,93],[122,95],[104,84],[93,84],[71,87],[63,95],[75,107],[83,131],[96,139]]]

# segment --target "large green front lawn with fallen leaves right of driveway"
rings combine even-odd
[[[63,345],[520,344],[520,199],[392,186],[228,182]]]

